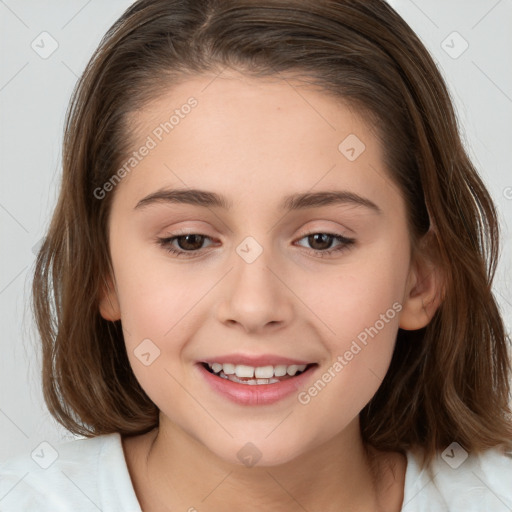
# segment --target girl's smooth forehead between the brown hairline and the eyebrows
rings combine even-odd
[[[150,147],[133,157],[121,183],[132,202],[165,185],[228,196],[243,190],[246,200],[260,203],[317,185],[392,185],[368,120],[292,77],[190,77],[132,114],[129,124],[134,153]]]

